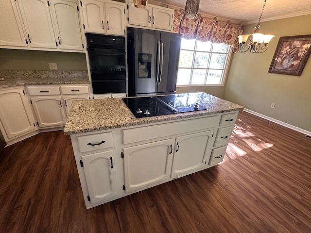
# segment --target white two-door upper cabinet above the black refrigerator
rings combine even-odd
[[[136,25],[159,30],[172,31],[174,10],[147,4],[146,8],[137,8],[132,1],[127,3],[129,26]]]

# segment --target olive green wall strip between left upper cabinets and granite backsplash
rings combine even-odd
[[[85,53],[0,49],[0,70],[49,70],[49,62],[58,70],[87,70]]]

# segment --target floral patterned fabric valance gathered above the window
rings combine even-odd
[[[238,35],[242,34],[242,24],[222,22],[217,18],[211,19],[198,15],[196,18],[184,18],[184,13],[174,13],[173,32],[181,33],[185,39],[198,39],[206,42],[225,43],[238,51]]]

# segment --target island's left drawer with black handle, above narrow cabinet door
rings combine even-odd
[[[112,133],[98,133],[77,137],[81,153],[113,147]]]

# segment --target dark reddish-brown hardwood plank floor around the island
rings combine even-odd
[[[309,233],[311,138],[240,112],[222,164],[86,210],[70,137],[0,152],[1,233]]]

